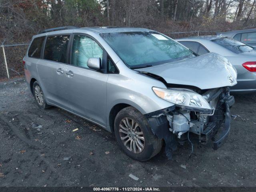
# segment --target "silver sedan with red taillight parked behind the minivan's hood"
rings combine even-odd
[[[223,36],[194,36],[176,39],[198,55],[209,52],[226,57],[237,70],[236,93],[256,92],[256,50],[238,40]]]

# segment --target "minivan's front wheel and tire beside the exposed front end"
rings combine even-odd
[[[114,132],[121,149],[135,160],[149,160],[162,148],[162,140],[153,134],[146,117],[132,106],[118,112]]]

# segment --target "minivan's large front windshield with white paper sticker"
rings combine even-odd
[[[130,68],[195,57],[192,51],[156,32],[102,33],[100,36]]]

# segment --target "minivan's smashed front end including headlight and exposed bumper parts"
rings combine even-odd
[[[229,94],[230,88],[198,91],[170,89],[174,90],[174,93],[167,90],[168,95],[163,95],[158,89],[154,92],[161,98],[175,98],[178,102],[175,101],[175,105],[170,108],[145,116],[154,134],[164,139],[168,158],[172,157],[172,152],[176,150],[178,143],[184,144],[190,139],[197,139],[201,144],[213,142],[215,150],[220,148],[230,132],[230,107],[234,104],[234,97]],[[176,94],[176,92],[183,92],[183,94]],[[186,103],[187,100],[190,103]]]

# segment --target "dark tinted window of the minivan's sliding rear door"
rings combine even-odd
[[[66,63],[69,35],[50,36],[46,40],[44,59]]]

